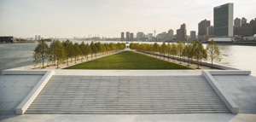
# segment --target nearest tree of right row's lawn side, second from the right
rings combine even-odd
[[[201,58],[202,51],[203,51],[204,47],[201,44],[201,42],[196,40],[195,43],[193,44],[193,49],[195,51],[194,57],[195,57],[195,59],[197,61],[197,68],[199,69],[199,60]]]

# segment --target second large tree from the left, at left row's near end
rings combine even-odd
[[[61,41],[57,40],[55,42],[55,48],[56,48],[57,68],[59,68],[60,61],[65,60],[65,47],[61,44]]]

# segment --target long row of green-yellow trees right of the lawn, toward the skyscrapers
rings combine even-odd
[[[212,40],[207,44],[207,48],[205,49],[200,41],[192,41],[191,43],[185,44],[177,41],[177,43],[168,43],[166,44],[130,44],[131,49],[137,49],[138,51],[142,51],[147,53],[148,55],[163,55],[164,59],[166,56],[168,60],[170,60],[170,55],[173,57],[173,61],[175,61],[174,57],[177,56],[180,63],[182,60],[188,62],[192,62],[193,60],[197,61],[197,68],[199,68],[200,62],[202,60],[210,60],[212,61],[220,61],[220,52],[218,49],[218,45]]]

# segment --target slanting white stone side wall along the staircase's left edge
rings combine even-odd
[[[21,71],[20,71],[21,72]],[[25,72],[25,71],[22,71]],[[33,72],[33,71],[30,71]],[[44,71],[46,72],[44,74],[44,77],[41,78],[34,86],[34,88],[30,91],[30,93],[26,96],[26,98],[20,103],[20,105],[16,108],[16,114],[23,114],[26,112],[26,109],[32,104],[32,102],[36,99],[38,94],[40,93],[41,90],[43,90],[45,84],[48,83],[49,78],[51,78],[52,75],[55,74],[55,71]]]

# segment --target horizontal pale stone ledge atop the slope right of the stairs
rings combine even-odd
[[[224,70],[224,71],[208,71],[212,75],[250,75],[251,71],[241,71],[241,70]]]

